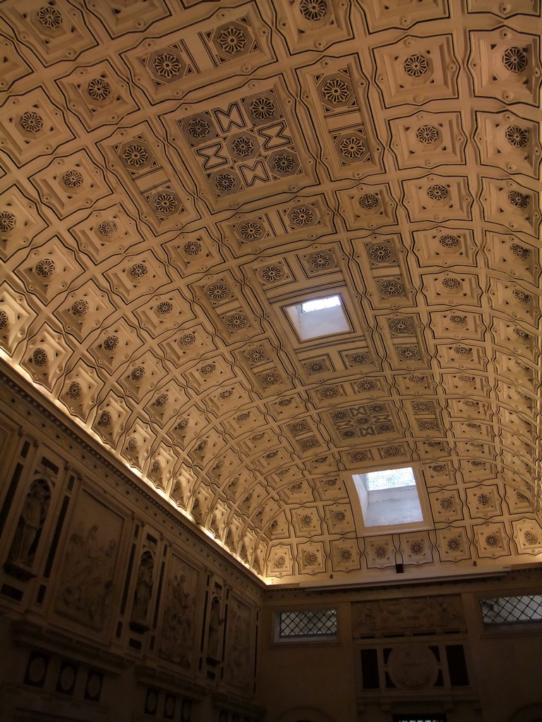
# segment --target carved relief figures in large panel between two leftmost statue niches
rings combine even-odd
[[[94,524],[83,536],[74,532],[66,549],[66,565],[60,599],[79,622],[102,630],[108,599],[113,591],[116,542],[105,546],[98,540]]]

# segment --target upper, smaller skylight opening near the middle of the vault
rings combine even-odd
[[[301,341],[350,331],[339,295],[313,298],[285,308]]]

